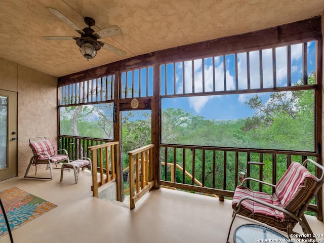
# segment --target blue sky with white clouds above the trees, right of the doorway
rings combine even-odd
[[[316,43],[308,43],[308,73],[315,70],[315,48]],[[276,48],[276,80],[278,87],[287,86],[287,52],[286,47]],[[291,46],[292,58],[292,84],[298,82],[302,77],[302,44]],[[247,54],[237,54],[238,88],[247,88]],[[212,58],[204,60],[205,91],[213,90],[213,68]],[[234,55],[225,56],[226,62],[226,90],[235,89],[235,62]],[[272,87],[272,49],[262,50],[263,62],[263,87]],[[176,63],[174,73],[173,64],[166,65],[161,70],[162,87],[161,94],[166,93],[164,79],[167,79],[167,94],[183,93],[183,80],[185,82],[185,93],[192,93],[192,62]],[[166,73],[166,77],[165,77]],[[184,75],[183,75],[184,73]],[[176,78],[176,91],[174,91],[173,78]],[[184,78],[183,78],[184,76]],[[251,88],[260,88],[259,75],[259,53],[250,52],[250,77]],[[201,59],[194,61],[194,87],[195,92],[203,91],[203,64]],[[215,80],[216,91],[224,90],[224,68],[223,57],[215,57]],[[162,109],[182,108],[193,114],[204,116],[207,119],[238,119],[252,116],[254,110],[245,105],[255,94],[201,96],[162,99]],[[269,93],[259,93],[261,99],[266,102]]]

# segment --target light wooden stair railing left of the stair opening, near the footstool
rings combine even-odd
[[[117,161],[119,161],[119,142],[88,147],[92,159],[92,191],[98,197],[98,188],[116,178]],[[100,181],[98,182],[98,168]]]

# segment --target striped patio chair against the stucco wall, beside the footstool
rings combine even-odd
[[[55,145],[50,139],[46,137],[33,137],[29,139],[29,147],[33,152],[33,156],[29,161],[29,165],[27,167],[25,178],[37,178],[37,179],[51,179],[53,180],[53,167],[52,164],[59,163],[61,161],[70,162],[68,153],[65,149],[55,149]],[[57,154],[58,151],[63,151],[64,154]],[[43,178],[43,177],[30,177],[28,176],[28,172],[30,166],[35,166],[35,175],[37,173],[37,165],[39,164],[47,164],[47,169],[50,168],[51,178]]]

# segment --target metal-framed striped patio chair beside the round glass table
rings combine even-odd
[[[322,170],[318,179],[307,169],[310,162]],[[265,192],[252,191],[242,186],[247,180],[253,180],[275,188],[275,192],[269,195]],[[287,232],[290,237],[293,228],[300,223],[305,235],[313,235],[311,228],[304,216],[310,201],[314,198],[324,181],[324,168],[311,159],[306,159],[301,165],[293,162],[286,173],[276,185],[262,182],[252,178],[246,178],[234,192],[232,208],[233,219],[228,231],[227,242],[232,224],[237,214],[265,223],[279,230]],[[313,237],[310,237],[314,239]]]

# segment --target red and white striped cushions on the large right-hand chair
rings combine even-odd
[[[272,195],[252,191],[244,186],[237,186],[233,196],[232,208],[236,211],[238,209],[238,201],[244,196],[249,196],[284,208],[292,213],[298,213],[301,206],[313,194],[316,187],[316,178],[304,166],[293,162],[275,186],[275,193]],[[294,227],[298,222],[281,211],[274,210],[249,199],[242,201],[238,214],[283,231],[286,231],[287,227]]]

